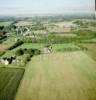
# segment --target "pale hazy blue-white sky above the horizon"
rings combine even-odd
[[[95,0],[0,0],[0,15],[94,12]]]

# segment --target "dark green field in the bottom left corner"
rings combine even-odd
[[[24,69],[0,68],[0,100],[13,100]]]

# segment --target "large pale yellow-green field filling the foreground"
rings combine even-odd
[[[35,56],[15,100],[96,100],[96,62],[81,51]]]

